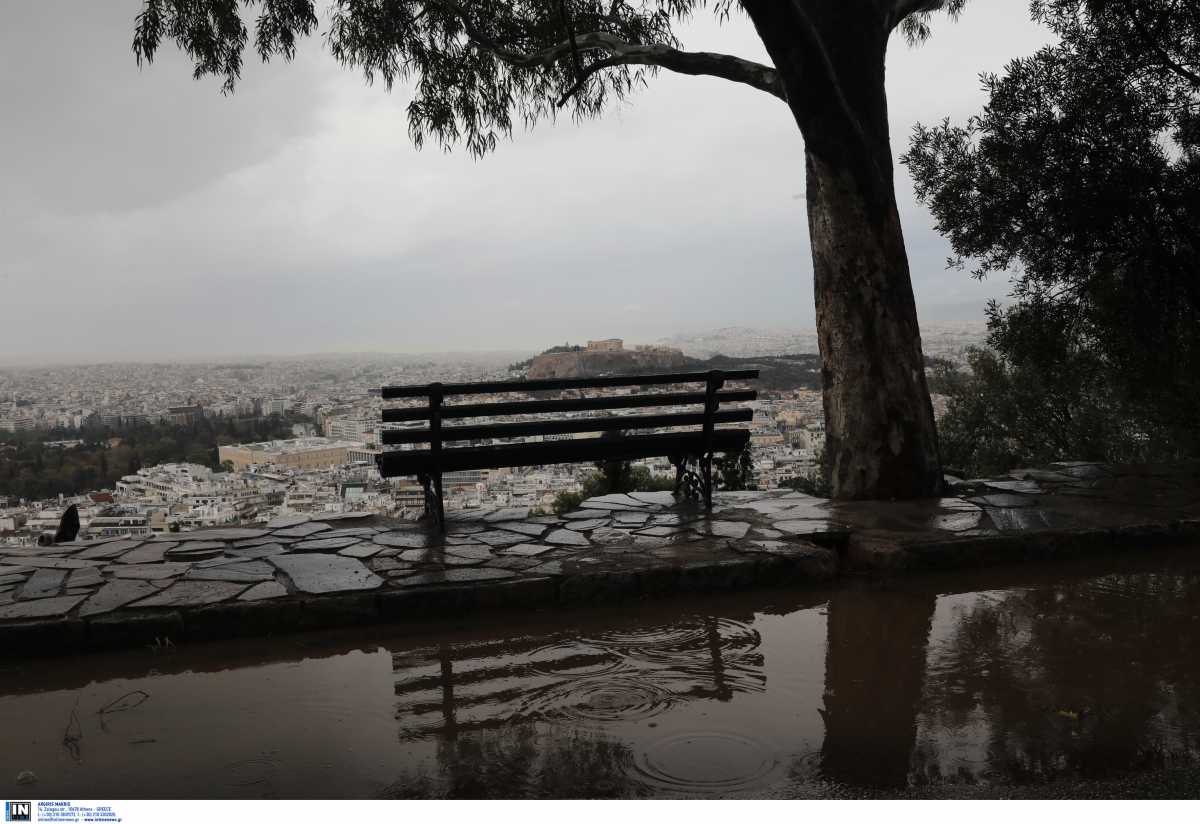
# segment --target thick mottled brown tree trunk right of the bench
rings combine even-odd
[[[826,452],[835,498],[941,492],[893,186],[877,0],[744,0],[804,134]]]

